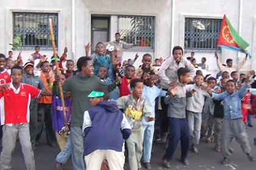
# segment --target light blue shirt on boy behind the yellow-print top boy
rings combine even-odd
[[[155,98],[157,97],[165,97],[166,91],[158,88],[157,86],[149,87],[144,85],[143,87],[143,94],[146,97],[146,101],[151,109],[152,117],[155,117]],[[143,117],[141,120],[143,125],[154,125],[155,121],[147,122]]]

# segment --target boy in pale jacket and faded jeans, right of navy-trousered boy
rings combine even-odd
[[[200,139],[202,109],[204,107],[205,97],[210,97],[207,92],[204,91],[203,83],[204,76],[198,74],[194,78],[194,84],[187,86],[188,91],[195,91],[192,97],[187,99],[187,117],[188,126],[190,127],[191,148],[195,153],[198,152],[196,146],[199,144]]]

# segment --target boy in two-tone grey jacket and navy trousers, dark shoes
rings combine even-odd
[[[190,70],[187,68],[179,68],[177,70],[178,81],[177,86],[169,89],[169,95],[165,98],[168,104],[169,118],[169,142],[165,155],[163,155],[163,166],[170,168],[169,161],[176,150],[176,146],[181,141],[182,154],[180,160],[184,165],[188,165],[188,147],[190,146],[190,131],[186,118],[187,97],[191,97],[191,93],[187,93],[186,84],[190,81]]]

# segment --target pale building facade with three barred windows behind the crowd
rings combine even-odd
[[[41,54],[52,56],[49,39],[49,22],[54,21],[57,52],[62,55],[68,47],[68,58],[77,61],[85,55],[85,45],[112,41],[115,33],[137,46],[125,50],[124,60],[150,53],[153,58],[171,56],[174,46],[182,46],[185,55],[195,52],[197,63],[207,58],[210,72],[218,72],[215,50],[222,63],[232,58],[234,63],[242,60],[244,54],[218,49],[218,33],[221,19],[227,15],[233,27],[250,44],[247,50],[252,59],[243,67],[256,67],[256,1],[177,1],[177,0],[57,0],[57,1],[1,1],[0,7],[0,52],[12,50],[15,36],[23,42],[21,55],[26,61],[34,53],[35,45],[41,47]],[[17,56],[19,50],[14,50]],[[135,63],[141,64],[141,58]]]

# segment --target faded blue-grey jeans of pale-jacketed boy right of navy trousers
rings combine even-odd
[[[191,144],[199,144],[202,114],[187,110],[188,126],[190,127]]]

